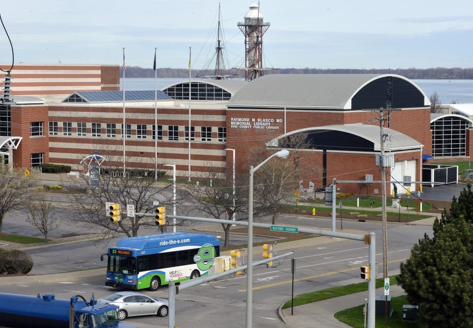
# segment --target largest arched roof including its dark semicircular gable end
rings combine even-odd
[[[359,110],[426,107],[430,101],[397,74],[270,74],[242,87],[227,106]]]

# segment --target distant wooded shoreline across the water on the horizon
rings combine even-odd
[[[473,68],[372,68],[372,69],[355,69],[355,68],[278,68],[267,71],[266,74],[398,74],[409,79],[425,79],[425,80],[471,80],[473,79]],[[121,75],[121,74],[120,74]],[[189,70],[186,68],[157,68],[156,75],[159,78],[188,78]],[[203,75],[198,69],[191,71],[191,76],[195,77]],[[125,77],[130,78],[149,78],[154,77],[152,68],[143,68],[139,66],[127,66]],[[236,78],[243,78],[243,72],[239,71]]]

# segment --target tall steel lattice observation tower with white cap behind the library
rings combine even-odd
[[[262,76],[263,68],[263,35],[270,28],[270,23],[263,21],[259,4],[250,5],[250,10],[238,23],[238,28],[245,36],[245,80],[251,81]]]

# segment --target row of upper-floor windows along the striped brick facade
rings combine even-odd
[[[115,138],[117,135],[117,124],[115,123],[92,123],[91,133],[93,137],[102,136],[102,125],[105,128],[105,135],[107,138]],[[119,125],[123,130],[123,124]],[[195,128],[191,126],[191,141],[195,140]],[[31,122],[30,124],[31,135],[43,135],[43,122]],[[158,125],[158,131],[155,131],[155,126],[151,125],[151,137],[154,140],[156,138],[156,132],[158,140],[163,140],[163,126]],[[72,135],[72,122],[63,122],[63,135]],[[49,135],[58,135],[59,128],[58,122],[49,122]],[[87,136],[86,123],[77,123],[77,135]],[[126,125],[125,135],[127,138],[132,137],[132,125]],[[148,137],[148,125],[137,124],[136,125],[136,137],[138,139],[146,139]],[[189,126],[184,127],[184,139],[189,140]],[[168,140],[179,140],[179,126],[169,125],[168,126]],[[227,128],[217,128],[217,140],[219,142],[227,141]],[[201,141],[212,141],[212,127],[201,127]]]

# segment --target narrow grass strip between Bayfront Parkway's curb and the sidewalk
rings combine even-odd
[[[398,283],[398,276],[390,276],[390,284],[396,285]],[[384,279],[378,278],[376,279],[376,288],[381,288],[384,285]],[[294,306],[303,305],[307,303],[313,303],[324,299],[329,299],[333,297],[349,295],[353,293],[364,292],[368,290],[368,282],[361,282],[358,284],[351,284],[346,286],[337,286],[332,288],[323,289],[321,291],[310,292],[306,294],[297,295],[294,297]],[[405,303],[407,304],[407,303]],[[282,306],[283,309],[291,307],[291,300],[288,300]],[[363,312],[361,312],[363,313]],[[338,318],[337,318],[338,319]],[[363,321],[361,322],[361,326],[363,327]]]

